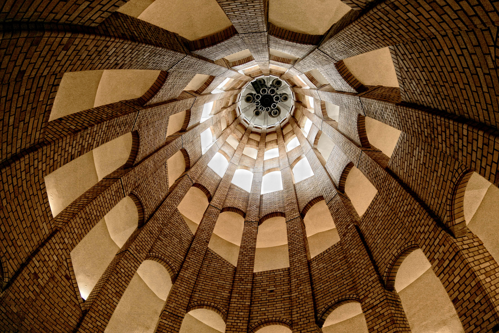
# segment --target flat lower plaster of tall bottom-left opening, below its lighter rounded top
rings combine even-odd
[[[105,333],[153,333],[165,301],[135,274],[107,324]]]

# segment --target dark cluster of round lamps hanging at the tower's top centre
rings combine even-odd
[[[278,78],[272,80],[270,87],[267,87],[263,78],[258,78],[251,82],[255,93],[250,92],[245,96],[245,102],[253,103],[255,109],[253,115],[258,117],[263,112],[268,112],[272,118],[276,118],[281,113],[279,102],[285,102],[289,99],[286,93],[277,93],[282,86],[282,81]]]

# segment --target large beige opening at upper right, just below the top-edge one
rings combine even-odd
[[[398,87],[399,81],[388,47],[343,59],[350,72],[365,85]]]

